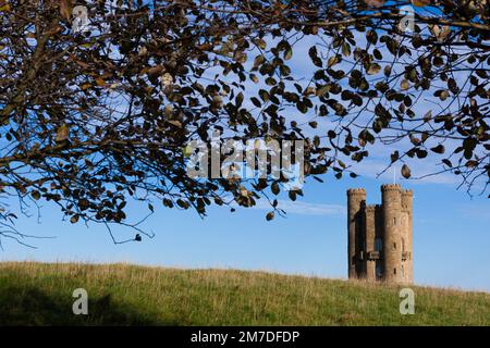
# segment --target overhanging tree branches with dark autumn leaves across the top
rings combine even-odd
[[[87,9],[85,28],[74,26],[75,5]],[[221,141],[302,139],[305,175],[319,181],[328,171],[355,177],[352,164],[381,145],[393,149],[387,169],[400,162],[404,177],[427,158],[431,174],[485,192],[489,9],[486,0],[3,1],[5,224],[12,197],[21,209],[52,201],[72,223],[143,234],[127,222],[130,199],[204,215],[212,203],[266,197],[272,219],[286,178],[187,174],[186,146],[210,142],[213,130]],[[302,45],[304,76],[291,64]]]

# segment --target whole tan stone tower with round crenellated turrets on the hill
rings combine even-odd
[[[348,277],[412,283],[413,192],[381,186],[381,204],[366,204],[363,188],[347,190]]]

